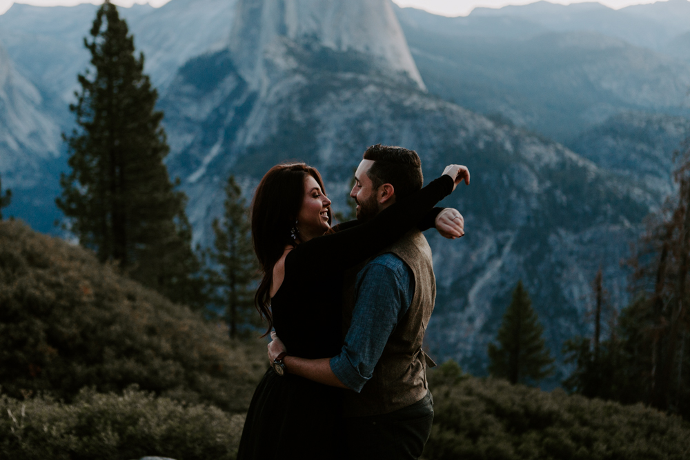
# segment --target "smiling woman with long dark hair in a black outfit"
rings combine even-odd
[[[344,270],[386,248],[450,194],[460,167],[364,223],[331,230],[331,201],[315,168],[271,168],[252,206],[254,247],[264,272],[262,316],[291,354],[325,358],[342,346]],[[269,309],[270,307],[270,309]],[[237,459],[345,457],[342,390],[269,369],[250,403]]]

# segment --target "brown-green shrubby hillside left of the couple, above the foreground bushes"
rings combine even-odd
[[[70,401],[84,387],[142,390],[245,412],[266,370],[262,341],[103,266],[19,222],[0,222],[0,384],[14,398]]]

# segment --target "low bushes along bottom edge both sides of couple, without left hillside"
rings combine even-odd
[[[690,426],[641,404],[542,392],[431,372],[435,417],[424,458],[687,459]],[[82,390],[70,404],[0,398],[0,457],[21,459],[233,459],[244,415],[184,404],[137,388]]]

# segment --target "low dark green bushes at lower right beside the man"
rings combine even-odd
[[[690,457],[690,425],[680,417],[459,371],[444,364],[431,372],[435,416],[425,459]]]

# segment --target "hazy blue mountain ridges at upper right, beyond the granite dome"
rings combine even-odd
[[[538,14],[546,10],[554,21],[565,21],[577,14],[551,10],[573,9],[618,14],[598,3],[566,8],[545,2],[450,20],[411,8],[396,11],[430,92],[557,141],[570,141],[622,111],[690,114],[689,63],[585,26],[564,31]]]

